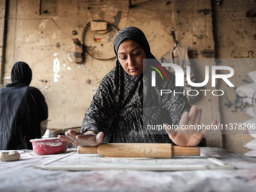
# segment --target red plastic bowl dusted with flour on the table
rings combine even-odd
[[[31,139],[35,154],[58,154],[67,150],[69,143],[56,137],[46,139]]]

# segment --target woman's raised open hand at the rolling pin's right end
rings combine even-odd
[[[192,106],[189,112],[184,112],[181,116],[181,120],[178,124],[177,130],[166,129],[166,133],[169,135],[169,139],[175,142],[179,146],[197,146],[201,139],[203,139],[204,134],[208,130],[197,130],[197,125],[200,124],[202,115],[202,109],[197,108],[197,106]],[[212,121],[212,126],[217,123],[216,120]],[[184,127],[194,127],[195,129],[187,129]]]

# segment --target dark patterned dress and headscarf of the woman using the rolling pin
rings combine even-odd
[[[139,44],[147,58],[154,58],[144,33],[135,27],[126,27],[117,32],[114,38],[116,55],[120,43],[127,38]],[[147,70],[148,67],[145,72]],[[102,131],[105,134],[103,142],[171,142],[165,132],[152,134],[143,124],[151,123],[152,120],[177,124],[181,114],[188,111],[190,105],[185,96],[181,95],[169,94],[160,98],[157,94],[160,87],[149,86],[151,81],[145,72],[139,76],[128,75],[117,59],[116,66],[105,75],[93,96],[93,102],[83,120],[82,132]],[[165,72],[168,81],[157,82],[162,84],[161,87],[168,86],[181,92],[181,88],[175,87],[175,76],[167,70]]]

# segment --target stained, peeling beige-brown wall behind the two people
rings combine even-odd
[[[256,17],[245,17],[246,11],[256,6],[254,0],[133,0],[132,4],[130,8],[129,1],[117,0],[8,1],[5,71],[1,78],[11,75],[15,62],[27,62],[33,72],[31,86],[38,87],[47,101],[48,128],[66,129],[81,126],[99,82],[115,66],[115,59],[109,58],[114,57],[113,39],[117,30],[107,35],[95,34],[86,28],[91,20],[105,20],[118,29],[139,27],[157,59],[174,47],[172,29],[178,46],[190,47],[192,59],[255,58]],[[2,20],[0,24],[3,32]],[[85,61],[77,64],[75,38],[84,42],[92,56],[108,60],[94,59],[84,53]],[[196,64],[196,67],[202,82],[205,66]],[[249,81],[248,72],[255,69],[255,66],[234,69],[242,75],[236,81]],[[224,84],[218,86],[225,88]],[[227,93],[231,102],[235,102],[234,90]],[[242,123],[250,118],[239,104],[226,103],[222,97],[206,96],[194,104],[205,111],[203,123],[213,119],[229,123],[233,117]],[[232,111],[234,108],[236,112]],[[251,137],[220,132],[206,139],[209,146],[244,153],[243,146]]]

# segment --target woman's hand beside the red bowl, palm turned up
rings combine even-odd
[[[98,134],[93,131],[87,131],[86,133],[78,133],[73,130],[68,130],[65,136],[58,136],[59,139],[70,142],[76,146],[97,146],[102,142],[104,133]]]

